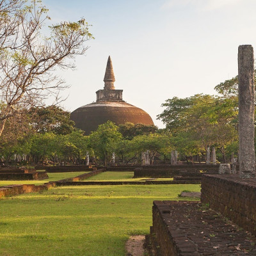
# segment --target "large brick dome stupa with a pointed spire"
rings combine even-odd
[[[116,90],[115,75],[110,56],[104,76],[104,89],[96,92],[97,101],[77,108],[70,114],[70,119],[76,123],[76,127],[86,134],[96,131],[98,125],[108,120],[116,125],[131,122],[133,124],[154,125],[152,118],[140,108],[136,108],[123,100],[123,90]]]

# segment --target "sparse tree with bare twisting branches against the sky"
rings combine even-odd
[[[69,61],[84,54],[84,42],[93,38],[84,19],[50,26],[50,35],[42,35],[50,19],[47,8],[29,1],[0,1],[0,136],[10,117],[44,105],[52,95],[60,101],[59,92],[67,86],[54,71],[74,68]]]

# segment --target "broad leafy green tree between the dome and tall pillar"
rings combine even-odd
[[[166,123],[179,151],[191,157],[199,149],[204,154],[207,147],[214,145],[225,161],[225,148],[237,140],[237,97],[202,94],[186,99],[174,97],[163,106],[166,109],[158,118]]]

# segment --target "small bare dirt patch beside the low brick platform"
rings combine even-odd
[[[145,236],[131,236],[125,244],[127,256],[144,256]]]

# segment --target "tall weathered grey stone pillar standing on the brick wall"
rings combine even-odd
[[[252,45],[238,47],[239,81],[239,174],[255,177],[254,150],[254,57]]]

